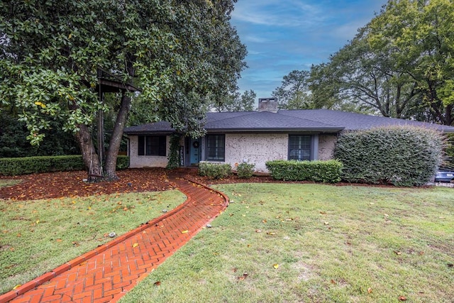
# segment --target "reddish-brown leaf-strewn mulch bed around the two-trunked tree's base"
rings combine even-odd
[[[117,172],[120,180],[96,183],[84,182],[87,178],[87,172],[84,171],[0,176],[4,180],[23,180],[11,187],[0,187],[0,199],[51,199],[123,192],[159,192],[174,188],[167,173],[167,170],[161,168],[120,170]]]

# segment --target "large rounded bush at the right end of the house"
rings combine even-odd
[[[389,126],[342,133],[334,156],[347,182],[421,186],[441,164],[444,145],[438,131]]]

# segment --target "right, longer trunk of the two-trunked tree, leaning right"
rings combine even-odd
[[[131,109],[131,99],[126,96],[125,92],[121,96],[120,109],[116,116],[114,131],[112,132],[111,140],[109,141],[109,149],[106,153],[106,175],[108,180],[118,180],[116,175],[116,158],[118,150],[120,150],[121,138],[123,137],[123,129],[125,128],[126,119],[128,118],[129,110]]]

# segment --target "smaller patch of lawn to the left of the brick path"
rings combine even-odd
[[[4,186],[4,183],[2,183]],[[32,201],[0,199],[0,294],[174,209],[176,190]]]

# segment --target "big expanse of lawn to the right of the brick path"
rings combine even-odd
[[[452,302],[453,189],[216,186],[234,203],[126,302]]]

